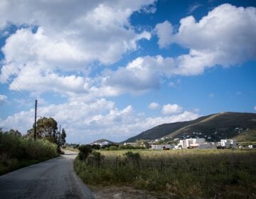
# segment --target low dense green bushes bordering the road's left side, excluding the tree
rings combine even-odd
[[[34,141],[0,131],[0,175],[56,156],[57,145],[48,140]]]

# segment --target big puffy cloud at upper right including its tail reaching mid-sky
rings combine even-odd
[[[255,18],[254,7],[223,4],[200,21],[193,16],[182,18],[176,33],[169,21],[159,23],[155,28],[159,47],[178,43],[188,48],[189,53],[176,58],[161,55],[136,58],[126,68],[110,71],[104,85],[123,92],[157,89],[161,77],[199,75],[215,65],[228,67],[255,59]]]

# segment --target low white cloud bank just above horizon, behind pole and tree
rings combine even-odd
[[[68,134],[68,142],[87,143],[99,138],[123,141],[159,124],[196,119],[198,114],[181,112],[166,117],[145,117],[135,112],[131,105],[117,109],[114,102],[97,99],[95,102],[79,101],[63,104],[46,104],[38,107],[38,115],[53,117]],[[18,112],[0,120],[0,127],[15,128],[23,133],[33,125],[34,109]]]

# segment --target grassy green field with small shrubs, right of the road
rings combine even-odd
[[[136,152],[135,152],[136,151]],[[94,152],[95,153],[95,152]],[[74,166],[90,185],[129,185],[178,198],[256,194],[256,150],[100,151]]]

